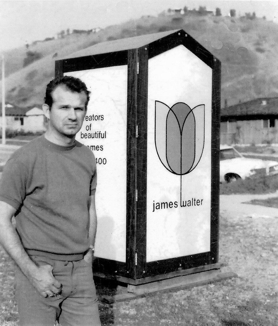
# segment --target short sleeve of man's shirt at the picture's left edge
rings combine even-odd
[[[0,179],[0,200],[18,210],[26,194],[28,169],[24,159],[14,153],[5,164]]]

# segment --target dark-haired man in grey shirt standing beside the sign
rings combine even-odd
[[[77,78],[51,81],[46,133],[17,150],[2,174],[0,241],[18,266],[20,325],[100,325],[92,273],[96,164],[75,140],[89,94]]]

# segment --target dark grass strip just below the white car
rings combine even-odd
[[[231,194],[268,194],[278,190],[278,175],[238,179],[231,183],[220,184],[220,195]]]

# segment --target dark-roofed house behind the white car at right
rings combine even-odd
[[[221,144],[278,143],[278,97],[221,109]]]

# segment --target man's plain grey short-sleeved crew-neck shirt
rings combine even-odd
[[[40,136],[7,161],[0,200],[10,204],[25,249],[76,254],[88,249],[90,196],[95,194],[92,151],[75,141],[56,145]]]

